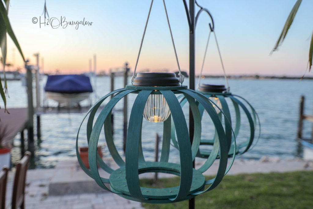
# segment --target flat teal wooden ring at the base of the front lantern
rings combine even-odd
[[[138,166],[139,174],[148,173],[148,172],[158,172],[158,173],[168,173],[180,176],[181,168],[179,164],[175,163],[168,163],[168,162],[144,162],[139,163]],[[188,198],[192,193],[197,191],[202,191],[204,189],[204,181],[205,177],[202,173],[193,168],[192,170],[192,184],[190,191],[188,193]],[[184,184],[184,182],[181,182]],[[182,186],[182,185],[181,185]],[[141,193],[144,198],[148,199],[144,200],[137,200],[130,196],[130,192],[128,190],[127,182],[126,182],[126,170],[125,167],[121,167],[115,171],[113,171],[110,175],[110,187],[113,191],[120,196],[123,196],[127,199],[135,200],[135,201],[142,201],[142,202],[149,202],[149,199],[158,199],[164,200],[162,203],[166,202],[175,202],[169,200],[169,198],[175,198],[179,191],[179,186],[169,187],[169,188],[147,188],[147,187],[140,187]],[[153,200],[151,200],[153,201]]]

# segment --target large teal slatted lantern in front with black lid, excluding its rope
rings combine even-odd
[[[111,113],[116,103],[128,94],[136,94],[128,121],[126,137],[125,160],[114,144]],[[114,95],[100,111],[95,114],[100,105],[111,95]],[[184,96],[189,103],[194,119],[193,142],[190,143],[188,128],[182,107],[177,97]],[[195,159],[201,138],[201,114],[198,108],[201,104],[215,126],[217,140],[214,152],[219,153],[219,167],[213,179],[205,180],[203,172],[208,170],[215,159],[208,158],[203,165],[195,169],[192,161]],[[80,166],[96,183],[107,191],[111,191],[129,200],[147,203],[171,203],[195,197],[215,188],[230,169],[228,163],[228,141],[223,125],[211,102],[203,94],[180,85],[174,73],[138,73],[133,85],[110,92],[96,102],[86,114],[88,159],[90,170],[82,163],[78,154],[78,137],[76,152]],[[84,119],[85,119],[84,118]],[[146,161],[142,144],[146,140],[141,135],[143,118],[150,122],[163,123],[162,151],[159,162]],[[177,147],[180,163],[171,163],[170,141],[172,124],[175,125]],[[82,125],[81,125],[82,126]],[[80,128],[81,128],[80,126]],[[230,127],[231,128],[231,127]],[[112,159],[119,166],[114,170],[97,154],[99,136],[105,134],[105,141]],[[109,178],[101,177],[100,169],[109,174]],[[145,188],[140,185],[139,174],[161,172],[180,176],[180,184],[171,188]],[[208,185],[205,188],[205,185]]]

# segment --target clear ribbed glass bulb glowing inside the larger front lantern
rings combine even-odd
[[[143,111],[143,117],[149,122],[164,122],[171,114],[170,108],[162,94],[150,94],[145,109]]]

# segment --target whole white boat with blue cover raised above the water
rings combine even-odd
[[[80,107],[79,102],[88,99],[93,89],[85,75],[49,75],[44,91],[59,107]]]

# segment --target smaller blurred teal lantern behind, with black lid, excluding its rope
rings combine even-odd
[[[259,139],[260,135],[259,117],[255,112],[255,109],[247,100],[238,95],[233,95],[225,88],[224,85],[201,84],[198,87],[198,92],[201,92],[212,102],[215,111],[218,113],[219,119],[222,121],[222,117],[224,117],[224,121],[227,121],[224,124],[224,126],[228,142],[229,157],[233,156],[233,154],[243,154],[249,149],[251,149],[253,147],[252,146],[253,144],[254,145],[256,144],[257,140],[255,141],[254,139],[255,138]],[[183,105],[185,102],[186,98],[182,99],[181,104]],[[230,111],[231,105],[233,106],[232,110],[234,112],[233,118],[231,117]],[[202,116],[204,108],[201,104],[198,105],[198,108],[200,115]],[[221,111],[223,112],[223,115],[221,114]],[[243,117],[246,118],[249,127],[249,134],[247,137],[238,136],[239,130],[242,127],[241,122]],[[229,126],[229,124],[235,124],[233,136],[232,129]],[[258,132],[259,135],[258,137],[255,137],[255,135],[257,135],[256,131],[257,129],[259,130]],[[212,139],[202,138],[200,141],[200,145],[213,146],[214,138]],[[234,149],[233,147],[234,138],[236,138],[237,142],[236,149]],[[197,157],[208,158],[212,152],[199,149]],[[216,155],[216,157],[219,156]]]

